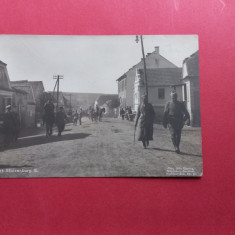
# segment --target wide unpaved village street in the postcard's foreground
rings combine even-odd
[[[67,124],[63,136],[47,138],[45,130],[21,137],[17,146],[0,152],[0,177],[194,176],[202,169],[200,128],[185,127],[181,154],[168,130],[155,124],[148,149],[134,143],[134,123],[104,118],[81,126]]]

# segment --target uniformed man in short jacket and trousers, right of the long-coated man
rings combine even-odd
[[[181,131],[184,123],[190,125],[190,116],[183,102],[177,100],[177,93],[171,93],[171,101],[166,104],[164,110],[163,126],[169,127],[171,140],[176,153],[180,153]]]

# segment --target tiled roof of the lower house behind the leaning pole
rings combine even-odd
[[[142,84],[144,81],[144,70],[138,70]],[[180,84],[182,68],[157,68],[147,69],[148,86],[173,86]]]

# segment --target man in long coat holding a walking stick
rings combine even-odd
[[[144,148],[149,145],[149,141],[153,140],[153,122],[154,122],[154,110],[152,104],[148,103],[147,96],[142,96],[142,103],[138,107],[135,129],[138,125],[138,141],[142,141]]]

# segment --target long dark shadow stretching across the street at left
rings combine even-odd
[[[25,138],[20,138],[14,146],[10,146],[6,150],[25,148],[25,147],[30,147],[30,146],[34,146],[34,145],[49,144],[49,143],[59,142],[59,141],[84,139],[84,138],[88,137],[89,135],[91,135],[91,134],[71,133],[71,134],[65,134],[62,136],[53,135],[50,137],[46,137],[45,135],[39,135],[39,136],[25,137]],[[0,151],[4,151],[4,150],[0,150]]]

